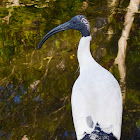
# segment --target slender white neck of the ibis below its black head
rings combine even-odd
[[[80,39],[77,52],[80,69],[85,69],[95,62],[90,52],[90,40],[91,36],[82,37]]]

